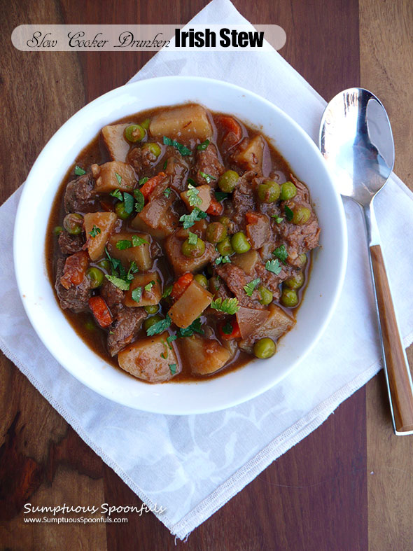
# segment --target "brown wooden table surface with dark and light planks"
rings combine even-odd
[[[14,6],[12,5],[14,4]],[[152,53],[22,53],[23,23],[187,22],[207,1],[3,2],[0,202],[43,145],[85,103],[125,83]],[[252,22],[286,30],[283,57],[326,99],[363,85],[388,109],[395,172],[412,186],[413,9],[410,0],[235,0]],[[409,354],[412,359],[412,351]],[[11,549],[174,550],[153,515],[128,524],[24,524],[22,506],[133,505],[133,492],[1,356],[0,545]],[[193,532],[178,549],[413,549],[413,437],[391,430],[384,377],[346,400],[304,441]]]

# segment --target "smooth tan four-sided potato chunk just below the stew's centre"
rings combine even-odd
[[[212,302],[212,295],[195,279],[169,309],[168,315],[176,326],[190,326]]]

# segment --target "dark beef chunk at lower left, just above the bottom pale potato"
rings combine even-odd
[[[147,315],[144,308],[123,307],[118,311],[116,321],[108,336],[108,348],[111,356],[116,356],[120,350],[137,337],[142,321]]]

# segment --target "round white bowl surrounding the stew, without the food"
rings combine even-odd
[[[106,363],[66,321],[45,267],[45,235],[64,175],[104,125],[144,109],[188,101],[232,113],[272,139],[297,178],[309,187],[321,225],[321,246],[313,253],[296,326],[283,337],[273,358],[251,361],[215,379],[151,385]],[[31,324],[51,354],[74,377],[106,398],[139,410],[193,414],[222,410],[258,396],[302,361],[323,333],[337,303],[346,267],[346,244],[342,200],[318,148],[292,119],[267,100],[235,85],[207,78],[162,77],[128,84],[95,99],[50,139],[34,163],[20,199],[14,260]]]

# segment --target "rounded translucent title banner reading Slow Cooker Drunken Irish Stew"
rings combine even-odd
[[[55,52],[279,50],[279,25],[19,25],[11,34],[18,50]]]

